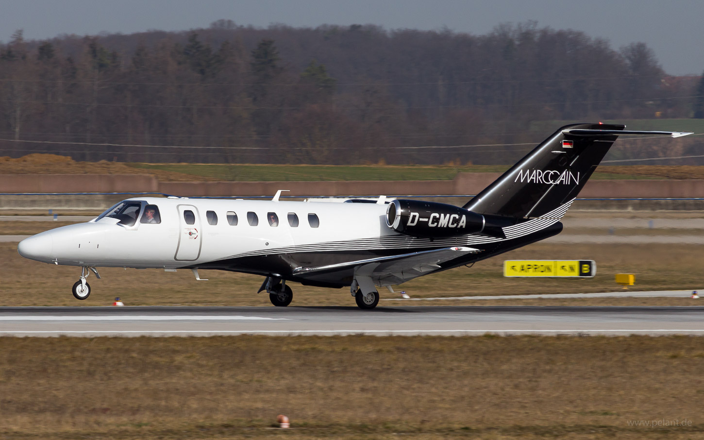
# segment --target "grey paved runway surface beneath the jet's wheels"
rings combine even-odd
[[[692,334],[704,307],[0,308],[0,336]]]

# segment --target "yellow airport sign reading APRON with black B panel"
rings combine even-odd
[[[504,277],[593,277],[594,260],[505,260]]]

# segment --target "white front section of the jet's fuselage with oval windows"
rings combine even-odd
[[[156,205],[161,222],[140,222],[141,212],[133,226],[121,225],[116,218],[96,218],[25,239],[19,252],[26,258],[60,265],[182,268],[268,249],[276,253],[277,249],[340,241],[341,234],[345,241],[399,235],[386,226],[383,203],[184,198],[127,201],[142,202],[143,208]],[[194,213],[193,224],[185,222],[186,210]],[[217,222],[208,211],[217,215]],[[237,214],[237,225],[230,225],[227,213]],[[248,213],[256,214],[257,225],[250,225]],[[277,215],[277,226],[270,225],[270,213]],[[289,224],[289,214],[296,215],[297,226]],[[318,227],[311,226],[309,214],[318,219]]]

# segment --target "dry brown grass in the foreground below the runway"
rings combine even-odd
[[[704,437],[697,337],[0,339],[0,436]],[[692,421],[630,427],[629,420]]]

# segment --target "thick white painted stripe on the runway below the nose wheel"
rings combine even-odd
[[[287,318],[264,318],[239,315],[0,315],[0,321],[288,321]]]

